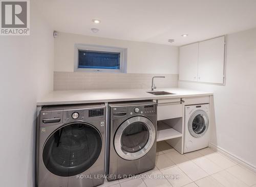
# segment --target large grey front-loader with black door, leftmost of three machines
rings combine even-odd
[[[103,183],[104,105],[45,107],[38,125],[38,187]]]

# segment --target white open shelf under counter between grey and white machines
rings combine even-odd
[[[176,137],[182,137],[182,133],[173,129],[169,125],[162,121],[158,121],[157,124],[157,142],[164,141],[166,139],[172,139]]]

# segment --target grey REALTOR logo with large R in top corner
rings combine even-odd
[[[29,35],[29,1],[0,1],[0,35]]]

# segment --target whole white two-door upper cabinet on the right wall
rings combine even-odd
[[[180,47],[179,79],[224,83],[225,36]]]

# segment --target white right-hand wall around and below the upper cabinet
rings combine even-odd
[[[255,82],[256,28],[227,36],[225,86],[181,81],[179,86],[214,92],[211,142],[256,169]]]

